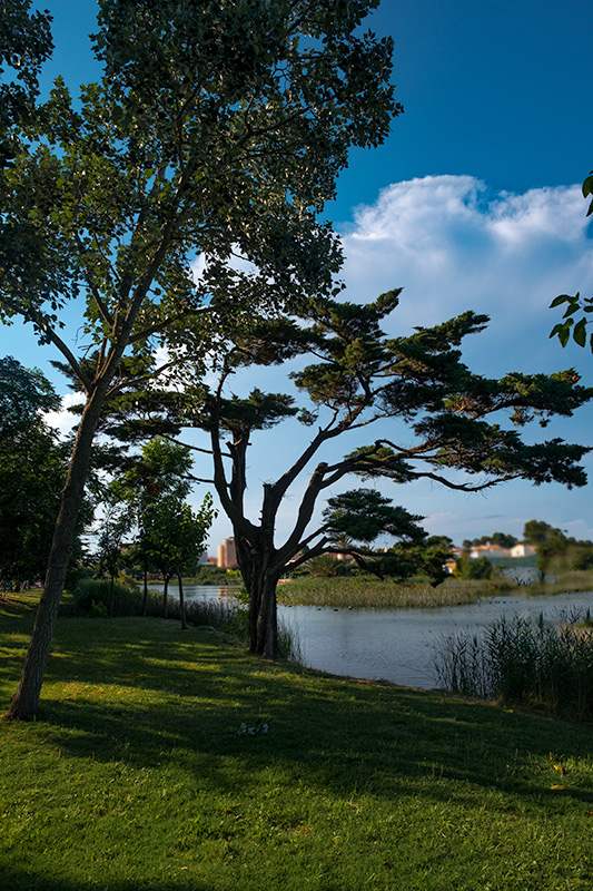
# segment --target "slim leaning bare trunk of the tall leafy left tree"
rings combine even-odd
[[[72,554],[76,523],[85,495],[92,440],[103,401],[105,393],[95,391],[80,419],[62,491],[60,511],[53,530],[46,584],[37,608],[33,631],[24,658],[19,687],[12,697],[7,715],[9,718],[31,721],[39,705],[53,628],[63,593],[68,564]]]

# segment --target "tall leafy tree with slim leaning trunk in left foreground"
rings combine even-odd
[[[58,79],[20,134],[0,186],[1,313],[61,352],[86,402],[10,717],[37,709],[93,435],[126,354],[150,354],[194,317],[199,362],[231,321],[332,288],[339,248],[315,213],[349,147],[378,145],[401,110],[392,41],[359,32],[377,3],[99,0],[103,79],[79,110]],[[251,265],[229,265],[236,254]],[[78,295],[92,368],[60,327]]]

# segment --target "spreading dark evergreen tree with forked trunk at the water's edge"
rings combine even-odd
[[[461,491],[514,479],[536,484],[555,480],[569,487],[585,483],[579,461],[589,449],[557,438],[527,444],[518,428],[534,419],[545,425],[554,414],[569,417],[593,391],[580,386],[572,370],[551,376],[511,373],[501,380],[472,373],[458,347],[487,322],[472,312],[417,329],[411,336],[386,336],[380,323],[397,305],[398,294],[389,292],[366,305],[322,298],[298,317],[264,321],[251,336],[228,344],[218,385],[211,392],[196,392],[194,409],[190,389],[179,396],[186,401],[185,423],[209,433],[214,482],[234,527],[249,593],[255,653],[277,654],[276,585],[288,564],[296,567],[333,549],[364,554],[360,542],[370,541],[382,525],[405,545],[422,546],[418,518],[386,506],[373,490],[330,502],[323,521],[310,530],[317,499],[347,476],[395,484],[428,479]],[[246,366],[295,356],[299,364],[306,356],[314,360],[290,374],[308,399],[300,409],[288,394],[228,393],[233,375]],[[316,430],[286,471],[264,484],[256,521],[245,506],[251,437],[296,414]],[[511,425],[504,425],[505,419]],[[370,430],[372,424],[376,438],[367,446],[343,458],[319,460],[324,447],[353,431]],[[307,470],[315,460],[313,471]],[[295,509],[294,528],[278,544],[278,510],[305,472],[308,483]],[[344,535],[353,539],[349,548],[338,544]],[[411,551],[404,547],[399,557],[405,559],[406,552]]]

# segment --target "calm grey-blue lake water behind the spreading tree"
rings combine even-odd
[[[187,597],[233,597],[231,588],[188,586]],[[172,588],[171,595],[176,589]],[[433,654],[443,636],[478,633],[485,625],[518,614],[550,621],[572,610],[593,611],[593,591],[543,597],[500,597],[437,609],[332,609],[278,606],[281,621],[299,643],[300,662],[336,675],[391,681],[409,687],[437,686]]]

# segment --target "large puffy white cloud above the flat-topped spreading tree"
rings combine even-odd
[[[402,332],[485,312],[492,336],[480,335],[478,353],[490,346],[492,359],[504,340],[516,364],[527,337],[540,365],[544,347],[566,364],[557,342],[547,342],[557,321],[547,307],[560,293],[593,290],[585,209],[579,186],[495,194],[471,176],[391,185],[356,209],[343,235],[348,293],[367,301],[403,286],[394,316]]]

